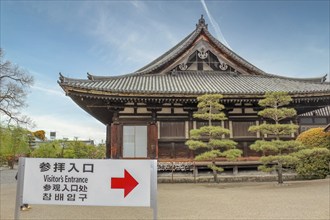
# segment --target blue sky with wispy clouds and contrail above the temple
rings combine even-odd
[[[24,113],[32,130],[105,140],[105,126],[57,83],[134,72],[190,34],[209,31],[265,72],[318,77],[329,71],[329,1],[0,1],[5,58],[35,77]]]

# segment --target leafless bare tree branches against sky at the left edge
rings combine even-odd
[[[33,76],[8,60],[4,60],[0,48],[0,114],[1,121],[10,124],[31,124],[31,120],[21,115],[21,109],[26,107],[26,95],[33,85]]]

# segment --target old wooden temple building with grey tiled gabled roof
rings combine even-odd
[[[329,105],[325,77],[290,78],[266,73],[226,47],[208,31],[203,16],[176,46],[141,69],[120,76],[72,79],[60,75],[59,85],[77,105],[106,126],[108,158],[156,158],[192,161],[185,141],[189,130],[205,121],[193,118],[196,97],[222,94],[229,138],[243,151],[241,161],[260,156],[249,145],[261,138],[251,125],[264,123],[258,101],[266,92],[285,91],[298,115]],[[307,115],[308,116],[308,115]],[[304,120],[303,117],[300,120]],[[326,119],[329,123],[329,119]],[[298,123],[298,117],[288,123]],[[292,134],[285,138],[294,138]]]

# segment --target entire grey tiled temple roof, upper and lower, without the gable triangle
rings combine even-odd
[[[176,61],[180,61],[189,48],[194,48],[194,44],[201,39],[206,40],[208,45],[224,55],[227,61],[235,64],[243,73],[230,72],[232,70],[173,71],[169,68],[176,64]],[[70,79],[61,75],[59,84],[68,94],[78,91],[85,94],[101,92],[105,95],[117,93],[180,97],[205,93],[262,95],[265,92],[285,91],[301,97],[321,95],[330,99],[330,84],[325,83],[324,79],[296,79],[265,73],[214,38],[208,32],[202,17],[196,25],[196,30],[168,52],[134,73],[116,77],[88,74],[88,80]]]

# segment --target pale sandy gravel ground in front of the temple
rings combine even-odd
[[[0,219],[13,219],[15,170],[2,170]],[[159,219],[330,219],[330,179],[158,184]],[[33,205],[20,219],[150,219],[150,208]]]

